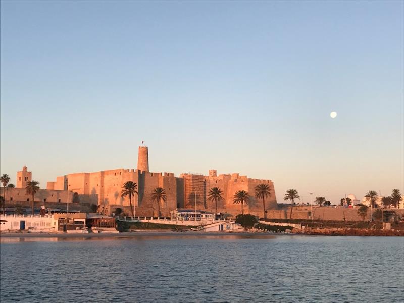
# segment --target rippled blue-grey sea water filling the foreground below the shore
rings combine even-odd
[[[2,303],[404,298],[403,237],[175,234],[3,240]]]

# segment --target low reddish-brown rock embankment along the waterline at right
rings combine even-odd
[[[404,236],[404,230],[367,229],[367,228],[302,228],[293,229],[292,233],[328,236]]]

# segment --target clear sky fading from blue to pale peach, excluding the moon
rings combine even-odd
[[[404,189],[404,2],[1,1],[0,173]],[[330,113],[336,111],[332,119]],[[309,195],[313,193],[313,195]]]

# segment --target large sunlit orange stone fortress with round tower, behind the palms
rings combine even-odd
[[[224,199],[218,201],[218,212],[233,216],[239,214],[241,206],[233,204],[233,195],[238,190],[245,190],[251,197],[249,203],[244,205],[244,213],[263,216],[262,200],[254,198],[254,187],[261,183],[269,184],[271,188],[271,196],[265,201],[266,208],[276,208],[275,189],[271,180],[251,179],[240,174],[218,176],[216,170],[210,170],[208,176],[181,174],[179,177],[173,173],[149,172],[146,146],[139,146],[137,169],[68,174],[57,177],[55,182],[47,182],[46,189],[57,192],[69,190],[69,201],[98,205],[106,214],[114,212],[118,207],[130,214],[129,199],[121,197],[122,185],[126,181],[136,182],[138,186],[138,195],[132,200],[132,204],[136,205],[135,216],[157,215],[157,202],[151,198],[156,187],[166,190],[167,199],[161,201],[160,205],[162,216],[169,216],[170,211],[176,208],[193,209],[195,201],[198,210],[214,212],[215,203],[208,201],[208,193],[212,187],[219,187],[223,191]],[[23,184],[21,187],[24,187]]]

